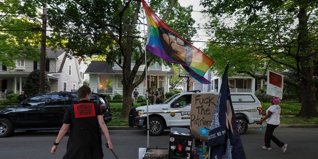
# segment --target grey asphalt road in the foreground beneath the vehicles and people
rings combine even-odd
[[[241,136],[247,159],[317,159],[318,128],[277,128],[276,137],[289,145],[286,154],[282,154],[281,148],[274,144],[271,151],[261,149],[264,129],[250,128]],[[50,154],[57,134],[57,131],[16,132],[12,137],[0,138],[0,159],[62,159],[67,136],[60,143],[56,155]],[[119,159],[138,159],[138,149],[147,147],[145,130],[110,130],[110,136]],[[105,137],[103,142],[106,142]],[[150,137],[150,148],[167,149],[168,145],[169,131]],[[104,154],[104,159],[115,159],[106,148]]]

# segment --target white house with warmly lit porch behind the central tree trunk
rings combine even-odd
[[[141,66],[135,79],[139,78],[144,70],[145,66]],[[121,83],[123,73],[118,65],[115,64],[114,67],[110,67],[106,61],[92,61],[85,74],[89,75],[89,86],[95,92],[106,93],[111,96],[123,93]],[[152,90],[159,88],[162,94],[169,91],[170,76],[174,76],[172,68],[160,66],[158,63],[150,66],[147,71],[147,86],[145,85],[146,81],[144,81],[136,87],[139,95],[146,96],[148,87],[152,87]]]

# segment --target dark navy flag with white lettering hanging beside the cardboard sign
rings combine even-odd
[[[210,159],[246,159],[232,105],[229,64],[223,74],[221,89],[210,126],[208,144]]]

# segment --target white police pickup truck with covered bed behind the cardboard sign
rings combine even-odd
[[[183,92],[173,95],[162,104],[149,105],[150,135],[158,136],[167,127],[189,127],[193,93],[218,94],[217,92]],[[253,93],[231,93],[231,99],[239,134],[244,134],[248,124],[260,120],[262,106]],[[136,111],[134,125],[142,128],[147,123],[147,106],[137,107]]]

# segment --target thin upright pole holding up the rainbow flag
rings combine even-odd
[[[143,9],[143,17],[145,17],[145,9]],[[149,148],[149,106],[148,106],[148,79],[147,79],[147,50],[146,50],[146,29],[145,29],[145,18],[144,21],[144,39],[145,39],[145,72],[146,72],[146,101],[147,101],[147,148]]]

